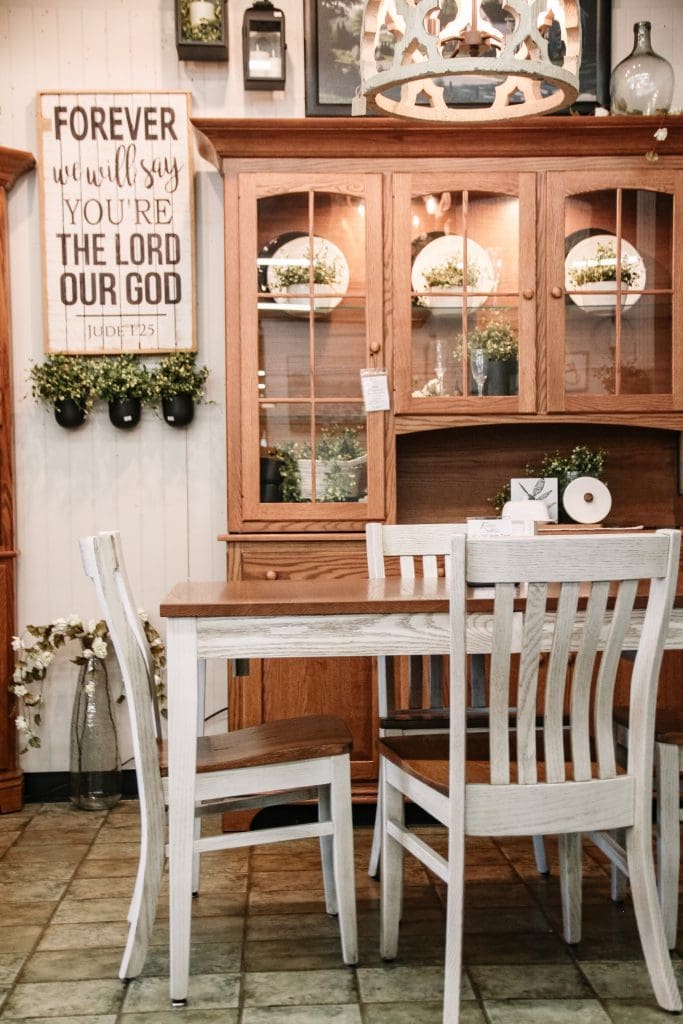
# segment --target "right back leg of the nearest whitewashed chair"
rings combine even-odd
[[[636,824],[627,829],[626,853],[633,908],[652,989],[664,1010],[677,1013],[683,1010],[683,1002],[667,948],[654,878],[652,833],[649,822],[645,828]]]

